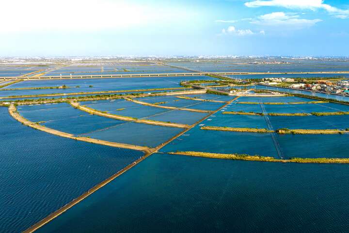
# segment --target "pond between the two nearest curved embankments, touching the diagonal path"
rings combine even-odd
[[[157,147],[183,130],[182,128],[127,122],[87,133],[84,136],[137,146]]]

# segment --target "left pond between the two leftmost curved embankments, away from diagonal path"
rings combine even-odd
[[[121,120],[88,114],[67,103],[20,105],[17,110],[19,114],[33,122],[40,122],[48,128],[75,135],[125,123]]]

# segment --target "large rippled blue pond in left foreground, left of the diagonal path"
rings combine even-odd
[[[0,107],[0,232],[22,232],[143,156],[23,126]]]

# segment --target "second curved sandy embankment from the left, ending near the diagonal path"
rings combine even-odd
[[[94,114],[94,115],[98,115],[98,116],[112,118],[112,119],[132,121],[135,123],[142,123],[142,124],[148,124],[148,125],[160,125],[160,126],[175,127],[175,128],[189,128],[189,125],[185,125],[185,124],[156,121],[156,120],[138,119],[138,118],[133,118],[133,117],[129,117],[129,116],[120,116],[120,115],[110,114],[110,113],[106,113],[106,112],[101,112],[101,111],[95,110],[93,108],[89,108],[89,107],[80,105],[80,103],[76,102],[76,101],[70,101],[70,104],[74,108],[77,108],[81,111],[84,111],[84,112],[87,112],[90,114]]]

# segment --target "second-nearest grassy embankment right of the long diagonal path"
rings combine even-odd
[[[335,134],[335,133],[349,133],[349,129],[319,129],[319,130],[306,130],[306,129],[258,129],[258,128],[233,128],[233,127],[219,127],[219,126],[203,126],[202,130],[215,130],[215,131],[231,131],[231,132],[248,132],[248,133],[279,133],[279,134]]]

